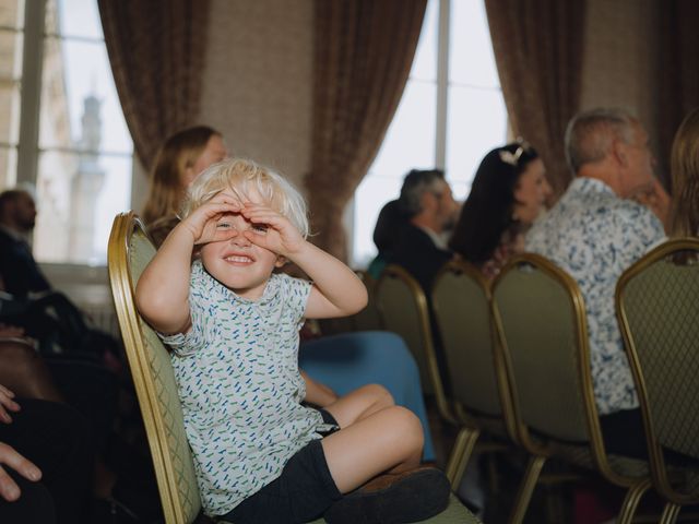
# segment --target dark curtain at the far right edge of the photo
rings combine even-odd
[[[699,106],[699,2],[667,0],[659,8],[660,117],[657,138],[663,172],[670,175],[670,150],[685,116]],[[666,177],[670,183],[670,176]]]

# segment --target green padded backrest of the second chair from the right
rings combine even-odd
[[[493,314],[522,443],[535,448],[534,431],[569,442],[594,437],[601,445],[584,301],[576,282],[543,257],[517,255],[493,283]]]

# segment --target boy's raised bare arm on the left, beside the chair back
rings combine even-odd
[[[145,320],[166,334],[185,333],[190,325],[189,278],[196,245],[224,240],[237,233],[218,229],[224,213],[239,211],[239,204],[215,196],[203,204],[167,236],[145,267],[135,289],[137,306]]]

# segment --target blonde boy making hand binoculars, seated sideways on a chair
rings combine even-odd
[[[437,469],[416,469],[419,420],[383,388],[364,386],[324,409],[300,404],[316,401],[298,371],[301,320],[352,314],[367,294],[352,270],[306,240],[298,192],[233,159],[208,169],[190,193],[139,281],[137,303],[173,349],[205,513],[351,523],[440,512],[449,484]],[[312,284],[273,274],[286,260]]]

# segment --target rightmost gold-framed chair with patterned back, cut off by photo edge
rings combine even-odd
[[[624,272],[616,310],[636,381],[661,522],[699,503],[699,239],[670,240]],[[668,465],[667,451],[695,460]]]

